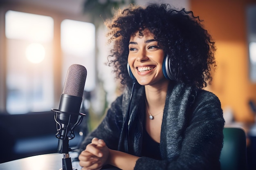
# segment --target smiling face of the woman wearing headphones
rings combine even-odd
[[[154,35],[148,29],[131,35],[129,42],[128,63],[132,74],[141,85],[153,85],[166,82],[162,71],[164,51],[159,48]]]

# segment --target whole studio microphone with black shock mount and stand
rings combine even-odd
[[[71,158],[68,152],[68,141],[74,138],[74,128],[81,124],[85,114],[79,113],[82,103],[86,68],[79,64],[72,64],[68,70],[58,109],[52,109],[57,123],[58,153],[63,153],[63,169],[72,170]]]

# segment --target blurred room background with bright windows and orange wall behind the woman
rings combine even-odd
[[[109,46],[103,23],[119,8],[149,2],[192,10],[204,20],[216,42],[218,64],[205,89],[219,97],[226,126],[246,131],[255,154],[256,0],[0,0],[0,115],[10,119],[11,131],[17,130],[16,117],[22,121],[22,115],[27,119],[58,108],[71,64],[87,68],[83,126],[95,128],[121,94],[105,64]]]

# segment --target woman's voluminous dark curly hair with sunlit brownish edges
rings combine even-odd
[[[105,22],[110,29],[109,42],[114,42],[108,65],[114,67],[121,84],[130,85],[127,71],[130,36],[144,29],[153,33],[159,47],[171,57],[175,81],[203,88],[211,82],[211,69],[216,68],[215,42],[192,11],[176,10],[169,4],[149,4],[147,7],[130,5],[119,10],[112,20]]]

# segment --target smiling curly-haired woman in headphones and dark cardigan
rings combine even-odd
[[[199,18],[150,4],[119,11],[106,25],[109,64],[125,90],[83,141],[83,170],[220,169],[225,121],[218,97],[202,90],[216,49]]]

